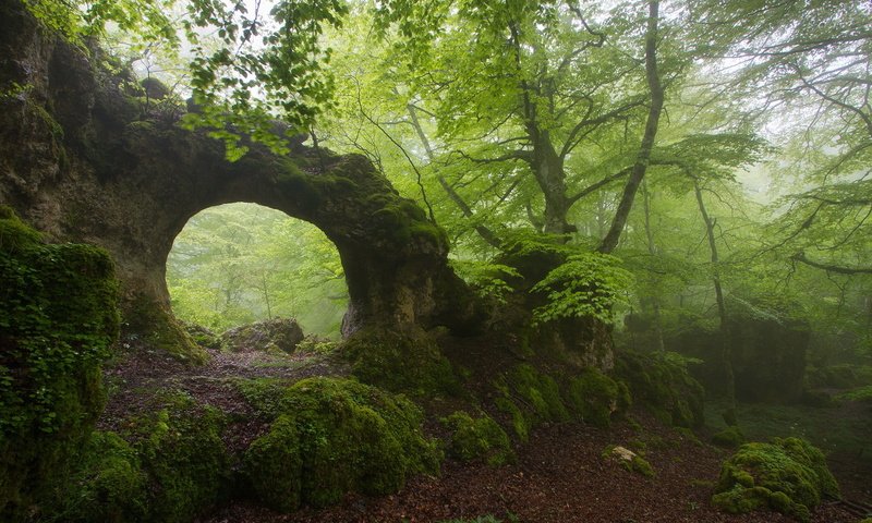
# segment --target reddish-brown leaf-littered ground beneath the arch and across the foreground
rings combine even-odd
[[[211,360],[206,365],[191,367],[149,352],[135,340],[128,343],[116,364],[107,366],[110,398],[99,427],[117,429],[125,418],[147,412],[152,399],[166,389],[186,391],[199,402],[231,414],[245,414],[251,408],[233,386],[234,379],[271,377],[293,382],[349,372],[343,362],[329,354],[209,353]],[[828,411],[833,411],[827,415],[834,419],[846,415],[838,409]],[[199,522],[436,522],[483,515],[524,523],[792,521],[772,512],[730,515],[716,511],[708,500],[720,462],[729,451],[701,443],[643,412],[633,412],[631,417],[637,423],[617,422],[610,429],[579,424],[541,427],[529,442],[517,448],[514,464],[492,467],[448,460],[440,476],[410,478],[405,488],[392,496],[349,495],[337,507],[303,509],[293,514],[233,500]],[[867,411],[864,417],[872,416]],[[250,421],[231,426],[226,434],[229,447],[243,450],[267,428],[262,425]],[[708,434],[703,430],[699,436],[705,440]],[[645,449],[645,459],[656,475],[647,478],[604,460],[603,450],[609,445]],[[872,502],[872,460],[836,455],[831,466],[845,497]],[[834,502],[825,502],[812,519],[816,523],[859,520]]]

